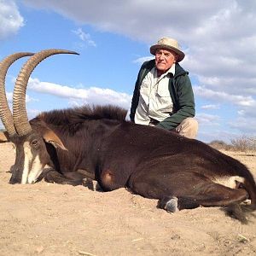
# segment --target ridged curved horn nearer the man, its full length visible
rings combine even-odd
[[[32,131],[26,114],[26,86],[28,79],[34,68],[37,67],[41,61],[44,61],[44,59],[50,55],[57,54],[79,55],[74,51],[66,49],[45,49],[30,57],[20,70],[19,76],[16,79],[13,96],[13,116],[15,128],[19,136],[26,135],[28,132]]]

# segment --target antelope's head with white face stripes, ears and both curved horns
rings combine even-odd
[[[11,142],[15,145],[15,165],[9,183],[35,183],[49,163],[46,143],[66,149],[54,131],[44,127],[32,128],[26,113],[26,86],[32,71],[41,61],[50,55],[75,54],[65,49],[46,49],[36,54],[29,52],[9,55],[0,62],[0,118],[6,129],[0,132],[0,143]],[[5,76],[13,62],[24,56],[30,56],[20,69],[13,93],[13,113],[11,113],[5,93]]]

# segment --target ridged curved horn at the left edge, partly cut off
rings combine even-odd
[[[30,52],[18,52],[13,55],[9,55],[3,61],[0,62],[0,118],[9,137],[14,137],[16,134],[14,120],[12,113],[9,110],[6,93],[5,93],[5,77],[9,67],[18,59],[31,56],[33,53]]]

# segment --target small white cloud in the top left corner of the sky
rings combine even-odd
[[[24,26],[24,19],[14,1],[0,0],[0,40],[14,35]]]

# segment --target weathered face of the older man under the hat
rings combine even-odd
[[[177,55],[169,49],[157,49],[155,52],[155,66],[164,73],[176,60]]]

